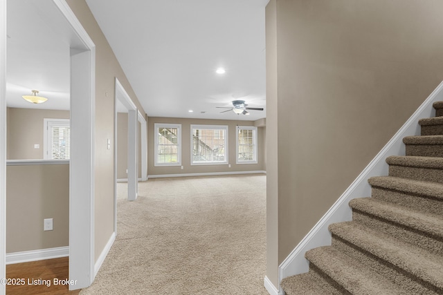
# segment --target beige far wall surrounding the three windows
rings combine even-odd
[[[180,166],[154,166],[154,124],[168,123],[181,124],[181,164]],[[228,126],[228,158],[229,164],[224,165],[192,165],[190,164],[190,125],[204,124],[204,125],[227,125]],[[236,171],[264,171],[266,164],[264,163],[265,151],[264,142],[260,138],[264,137],[264,128],[257,128],[258,136],[258,163],[257,164],[235,164],[235,126],[253,126],[253,121],[232,121],[232,120],[201,120],[201,119],[183,119],[183,118],[165,118],[165,117],[150,117],[147,124],[147,175],[162,175],[162,174],[180,174],[180,173],[213,173],[213,172],[236,172]]]

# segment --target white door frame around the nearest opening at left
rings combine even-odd
[[[0,0],[0,278],[6,278],[6,43],[7,0]],[[96,46],[65,0],[45,0],[37,13],[54,13],[70,39],[71,151],[69,187],[69,289],[94,279],[94,137]],[[0,284],[0,294],[6,293]]]

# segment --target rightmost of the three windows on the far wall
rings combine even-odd
[[[257,127],[237,126],[237,164],[257,163]]]

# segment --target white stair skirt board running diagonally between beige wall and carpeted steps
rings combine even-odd
[[[388,175],[388,164],[386,158],[389,155],[404,155],[405,146],[403,137],[408,135],[419,135],[420,126],[418,121],[425,117],[435,116],[433,102],[443,100],[443,82],[429,95],[424,103],[419,106],[417,111],[408,121],[399,129],[392,139],[383,147],[375,158],[366,166],[361,174],[352,182],[350,187],[341,195],[341,197],[332,205],[325,215],[309,231],[295,249],[284,259],[278,267],[279,283],[283,278],[302,274],[309,271],[309,262],[305,258],[305,253],[309,249],[320,246],[331,245],[331,234],[327,227],[334,222],[343,222],[352,220],[352,210],[349,202],[353,198],[363,198],[371,195],[371,187],[368,184],[368,178],[372,176]]]

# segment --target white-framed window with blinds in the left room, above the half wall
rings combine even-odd
[[[71,153],[69,119],[44,119],[44,158],[68,160]]]

